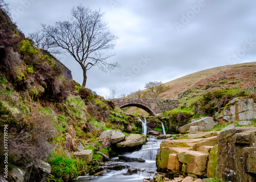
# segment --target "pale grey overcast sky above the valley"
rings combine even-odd
[[[82,4],[105,12],[103,21],[119,39],[109,62],[122,67],[88,71],[88,88],[105,96],[143,89],[150,81],[169,82],[200,70],[256,59],[256,2],[252,0],[10,0],[13,21],[26,36],[67,20]],[[82,70],[59,56],[82,84]]]

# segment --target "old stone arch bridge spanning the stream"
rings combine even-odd
[[[168,111],[178,106],[177,100],[156,98],[115,98],[111,99],[119,108],[135,106],[155,116],[163,111]]]

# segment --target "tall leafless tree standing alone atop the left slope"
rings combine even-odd
[[[100,10],[92,11],[81,5],[73,7],[69,21],[56,22],[54,26],[42,25],[47,37],[53,43],[70,53],[83,70],[82,87],[86,86],[87,71],[93,66],[107,72],[117,63],[108,63],[106,60],[115,54],[104,54],[104,51],[113,49],[117,36],[109,31],[107,24],[102,22],[104,13]]]

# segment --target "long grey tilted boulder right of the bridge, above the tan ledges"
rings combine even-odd
[[[212,130],[215,126],[215,123],[214,123],[214,119],[212,119],[212,117],[204,117],[202,119],[197,120],[196,122],[189,123],[187,125],[184,125],[184,126],[178,128],[178,131],[181,134],[185,134],[186,131],[189,130],[189,128],[191,126],[200,126],[200,127],[204,128],[204,131],[206,131],[206,130]]]

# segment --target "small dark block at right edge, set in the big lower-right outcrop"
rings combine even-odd
[[[256,174],[256,147],[243,148],[245,172]]]

